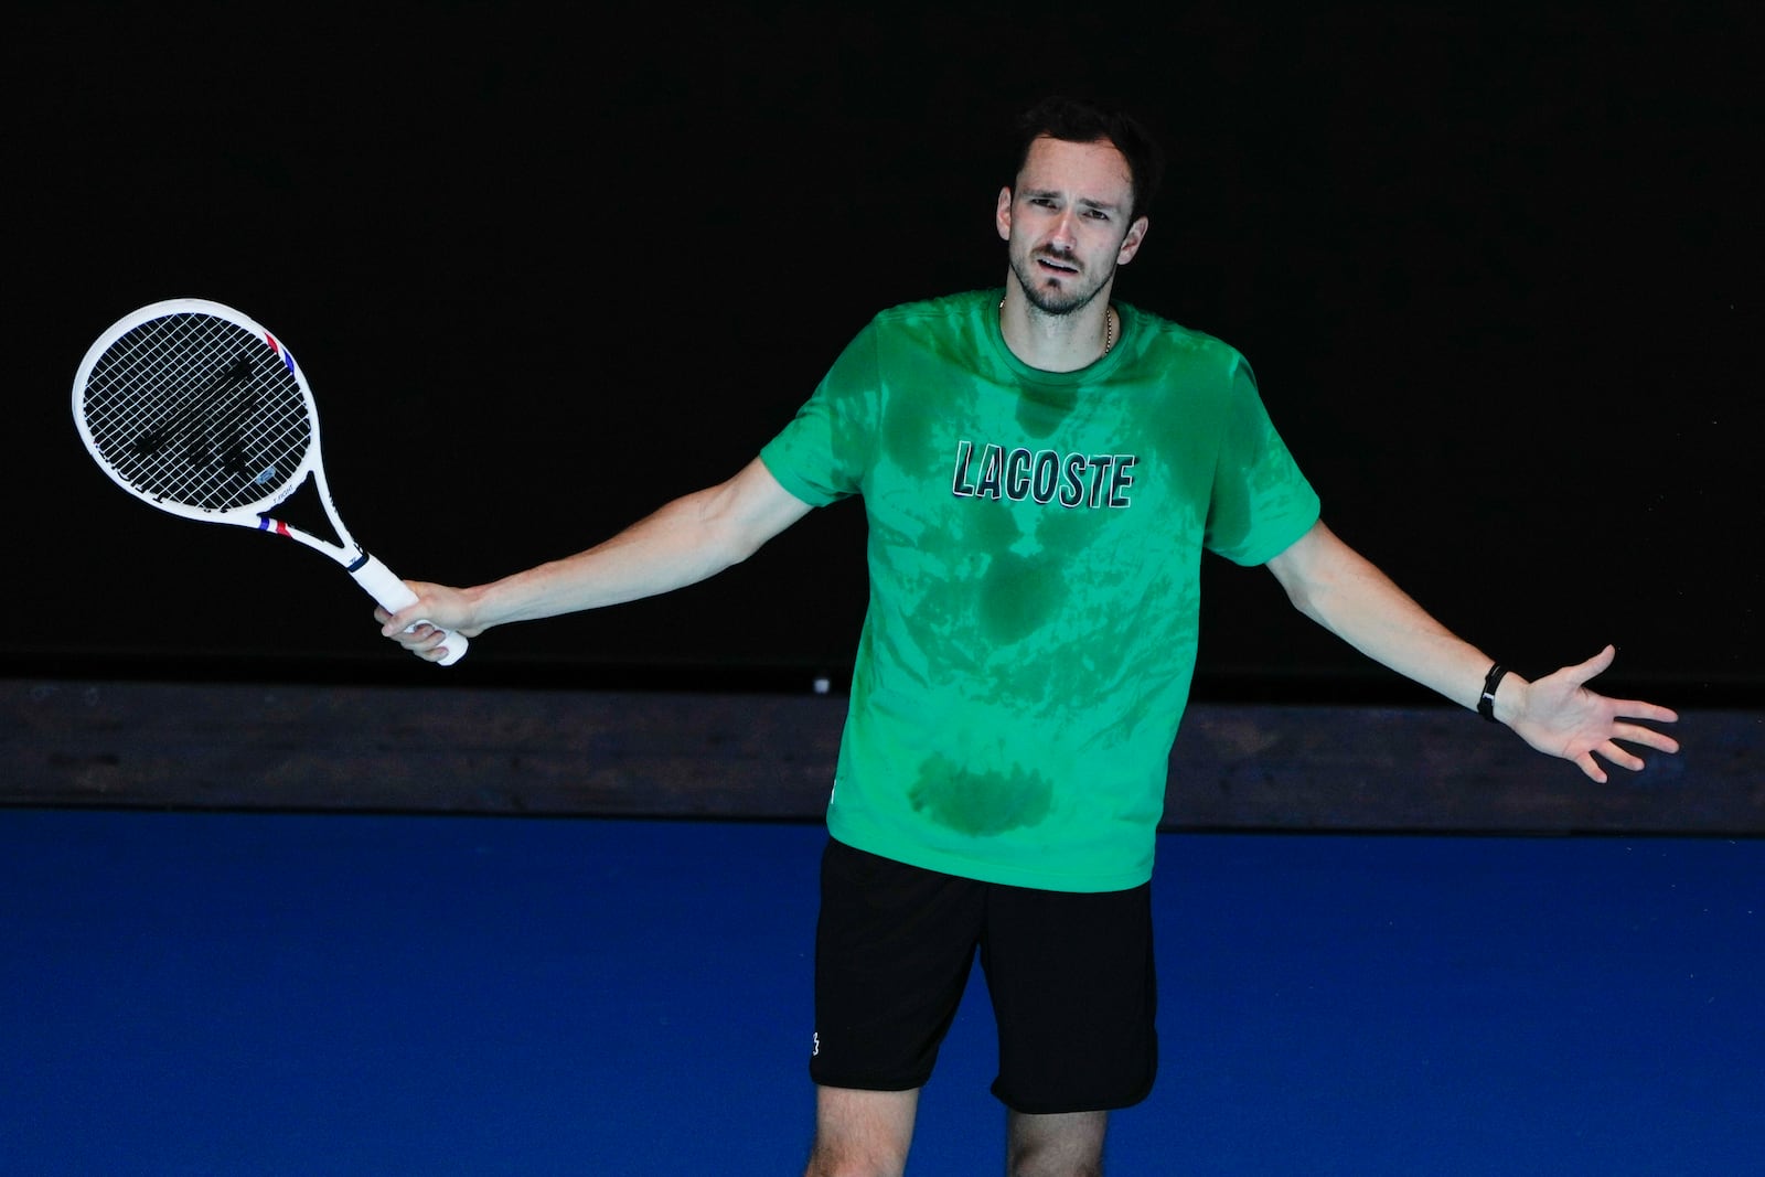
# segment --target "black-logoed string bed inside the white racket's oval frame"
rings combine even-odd
[[[199,510],[274,498],[300,473],[312,438],[305,390],[282,355],[196,312],[118,337],[94,364],[81,408],[118,478]]]

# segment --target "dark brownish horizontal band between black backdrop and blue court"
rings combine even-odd
[[[812,821],[840,695],[0,679],[0,805]],[[1765,833],[1765,713],[1608,785],[1453,708],[1195,704],[1170,829]]]

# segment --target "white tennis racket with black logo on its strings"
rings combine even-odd
[[[417,600],[342,526],[312,390],[288,348],[238,311],[173,298],[116,319],[79,362],[74,424],[99,468],[143,503],[305,544],[388,612]],[[309,480],[335,544],[272,515]],[[466,655],[461,633],[441,644],[443,665]]]

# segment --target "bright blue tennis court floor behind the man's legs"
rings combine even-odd
[[[814,824],[0,810],[0,1166],[796,1173]],[[1765,843],[1163,835],[1114,1173],[1765,1172]],[[976,976],[909,1173],[1003,1168]]]

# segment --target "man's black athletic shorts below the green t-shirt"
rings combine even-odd
[[[923,1087],[980,951],[1017,1112],[1135,1105],[1158,1071],[1151,884],[1071,893],[905,866],[828,840],[815,928],[824,1087]]]

